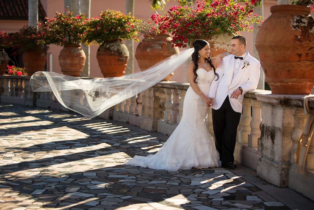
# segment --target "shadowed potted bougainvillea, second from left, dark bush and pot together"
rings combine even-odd
[[[46,65],[46,51],[48,45],[46,43],[46,30],[39,24],[37,26],[23,26],[18,32],[10,37],[14,54],[21,54],[22,61],[28,75],[32,75],[36,71],[43,71]]]

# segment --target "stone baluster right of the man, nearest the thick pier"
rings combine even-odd
[[[250,122],[251,133],[248,135],[247,146],[251,148],[257,148],[258,138],[261,136],[261,130],[259,126],[262,122],[261,106],[256,99],[250,99],[252,105],[252,120]]]

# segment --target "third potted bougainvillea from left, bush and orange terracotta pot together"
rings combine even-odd
[[[48,42],[63,46],[59,54],[59,64],[63,74],[78,77],[83,71],[86,55],[81,44],[86,44],[86,19],[83,13],[73,16],[73,11],[65,8],[64,13],[56,12],[56,17],[46,17]]]

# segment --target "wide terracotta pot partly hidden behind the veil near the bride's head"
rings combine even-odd
[[[170,34],[145,34],[143,40],[138,44],[135,51],[135,58],[141,71],[165,60],[171,55],[180,53],[178,47],[172,48]],[[173,72],[162,81],[171,80]]]

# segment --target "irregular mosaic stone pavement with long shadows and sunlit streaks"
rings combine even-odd
[[[180,171],[123,165],[167,138],[74,112],[0,103],[0,209],[314,209],[241,164]]]

